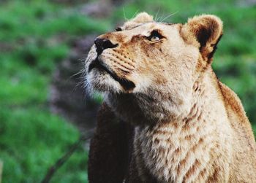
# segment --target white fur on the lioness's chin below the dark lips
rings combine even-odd
[[[86,89],[90,94],[98,92],[121,93],[121,85],[105,72],[92,69],[86,75]]]

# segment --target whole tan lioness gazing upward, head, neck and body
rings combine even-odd
[[[256,182],[256,144],[236,93],[211,68],[222,21],[140,13],[95,40],[86,85],[104,94],[90,182]]]

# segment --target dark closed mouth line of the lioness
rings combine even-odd
[[[98,58],[91,62],[91,64],[89,65],[88,73],[92,69],[99,69],[100,71],[107,72],[108,74],[110,74],[110,77],[120,83],[124,90],[132,90],[135,87],[134,82],[131,82],[123,77],[118,77],[117,74],[112,69],[110,69],[107,64],[100,61]]]

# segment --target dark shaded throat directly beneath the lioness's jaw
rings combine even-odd
[[[187,116],[189,110],[177,107],[170,95],[161,90],[148,89],[146,94],[112,94],[105,97],[106,103],[121,120],[137,126],[154,126],[159,122],[170,122]]]

